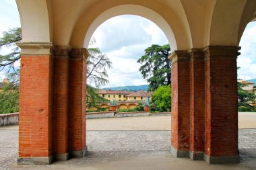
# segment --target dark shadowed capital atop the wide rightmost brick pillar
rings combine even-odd
[[[203,48],[205,60],[236,60],[241,53],[240,46],[206,46]]]

